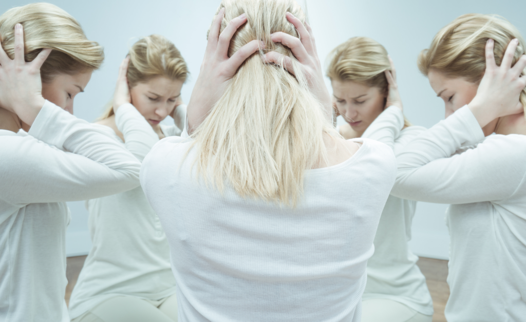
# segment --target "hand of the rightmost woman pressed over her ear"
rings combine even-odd
[[[526,55],[522,55],[511,67],[518,44],[517,39],[510,42],[502,63],[497,66],[493,53],[493,39],[488,39],[486,43],[486,70],[477,89],[477,95],[468,104],[480,127],[488,125],[495,118],[523,112],[519,96],[526,87],[526,76],[521,76],[526,67]]]

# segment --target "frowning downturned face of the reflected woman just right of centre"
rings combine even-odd
[[[332,94],[338,112],[358,134],[363,134],[385,107],[386,95],[378,87],[333,79]]]

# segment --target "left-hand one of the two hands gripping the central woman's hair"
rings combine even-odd
[[[263,42],[253,40],[228,57],[230,39],[237,29],[247,22],[247,17],[242,14],[232,19],[219,35],[224,13],[225,8],[221,8],[210,27],[205,58],[187,106],[188,134],[194,132],[194,129],[203,122],[210,109],[225,92],[229,80],[234,77],[239,66],[260,48],[265,47]]]

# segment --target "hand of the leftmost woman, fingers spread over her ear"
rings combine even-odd
[[[0,44],[0,106],[13,112],[31,126],[44,106],[40,68],[51,49],[42,49],[33,62],[24,59],[24,29],[15,25],[15,59],[9,58]]]

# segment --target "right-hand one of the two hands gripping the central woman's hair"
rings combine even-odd
[[[316,52],[316,43],[312,34],[312,28],[309,24],[304,26],[300,19],[289,12],[286,13],[286,16],[287,20],[296,27],[301,40],[284,32],[271,34],[270,37],[273,42],[281,43],[290,48],[292,54],[296,56],[296,59],[298,59],[298,62],[303,68],[312,94],[327,107],[327,112],[329,112],[328,115],[330,117],[332,115],[332,100],[327,86],[325,86],[325,81],[323,80],[323,72],[318,53]],[[272,51],[266,53],[262,58],[266,60],[266,63],[283,64],[283,67],[294,75],[294,67],[292,66],[290,57]]]

